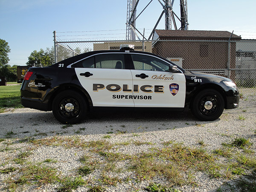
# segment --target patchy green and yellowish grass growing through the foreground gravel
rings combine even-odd
[[[23,168],[0,168],[0,174],[6,174],[6,177],[10,175],[4,183],[13,191],[23,185],[35,184],[40,187],[48,183],[56,183],[58,192],[76,191],[79,186],[89,188],[88,192],[102,192],[105,191],[105,187],[111,189],[113,186],[129,181],[139,183],[147,180],[148,186],[143,186],[146,191],[179,192],[175,189],[177,186],[196,187],[199,185],[195,181],[195,175],[198,172],[204,172],[209,178],[230,180],[239,177],[241,181],[239,180],[236,186],[247,182],[245,183],[246,189],[255,191],[255,151],[253,148],[250,153],[245,151],[252,145],[249,139],[233,138],[230,143],[223,144],[223,147],[214,151],[207,151],[203,140],[195,143],[199,143],[199,147],[189,147],[183,143],[169,140],[161,143],[161,146],[151,146],[148,151],[137,154],[129,155],[116,151],[116,148],[122,148],[121,145],[126,145],[126,143],[128,145],[153,145],[134,140],[112,144],[106,140],[84,141],[79,137],[57,136],[32,140],[30,142],[31,145],[34,145],[32,148],[38,145],[49,145],[86,150],[79,157],[81,166],[75,170],[74,175],[64,177],[56,168],[47,166],[48,163],[56,163],[56,160],[46,159],[37,164],[29,163],[28,157],[32,155],[32,152],[28,150],[18,153],[12,160],[15,163],[23,164]],[[118,175],[122,172],[131,172],[131,175],[125,178],[119,177]],[[246,174],[250,172],[248,177],[250,176],[252,179],[244,180]],[[94,177],[95,174],[100,175]],[[84,176],[87,178],[86,180]],[[157,178],[166,182],[152,183]],[[133,191],[142,189],[131,187],[133,187]],[[222,187],[218,189],[218,191],[220,190]],[[197,191],[196,188],[195,191]]]

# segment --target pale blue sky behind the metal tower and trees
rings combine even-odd
[[[140,0],[137,15],[148,2]],[[177,15],[179,2],[174,2]],[[189,30],[234,30],[242,38],[256,39],[256,0],[187,0],[187,7]],[[153,0],[136,27],[150,32],[162,10]],[[0,38],[11,48],[9,64],[26,65],[32,51],[53,46],[53,31],[88,31],[83,36],[87,40],[125,39],[126,12],[127,0],[0,0]],[[157,29],[164,29],[163,19]]]

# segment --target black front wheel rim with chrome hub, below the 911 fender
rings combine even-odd
[[[209,105],[209,107],[206,107],[207,104],[211,104]],[[199,102],[199,110],[202,114],[209,116],[209,115],[213,115],[215,113],[217,113],[218,111],[218,99],[216,96],[204,96],[201,98],[200,102]]]

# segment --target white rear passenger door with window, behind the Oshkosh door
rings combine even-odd
[[[95,107],[134,107],[125,53],[101,53],[77,64],[76,75]]]

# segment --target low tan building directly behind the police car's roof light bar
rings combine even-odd
[[[96,50],[119,50],[121,44],[133,44],[136,51],[143,51],[142,42],[104,42],[93,44],[93,51]],[[144,42],[144,51],[152,52],[152,43]]]

